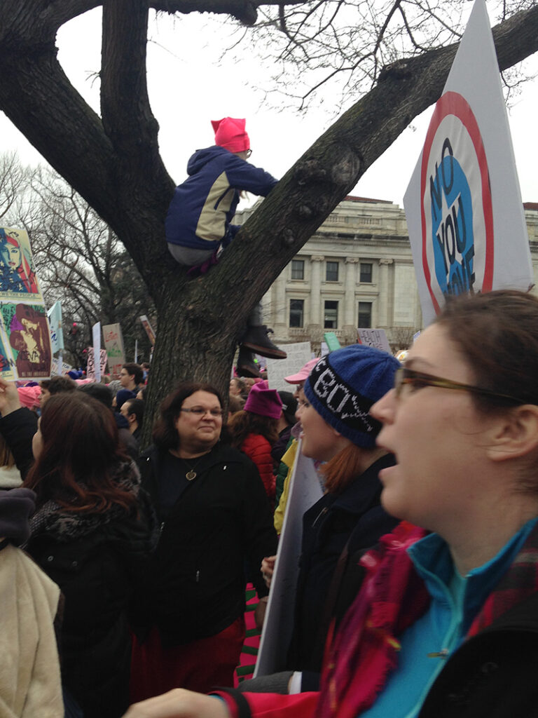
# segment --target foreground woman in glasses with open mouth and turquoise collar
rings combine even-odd
[[[536,297],[458,298],[372,406],[397,460],[382,503],[404,521],[362,558],[320,693],[176,691],[128,717],[537,714],[537,365]]]

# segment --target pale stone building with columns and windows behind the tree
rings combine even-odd
[[[538,203],[524,208],[538,281]],[[357,340],[357,327],[374,327],[393,348],[407,347],[423,320],[404,210],[346,197],[273,283],[263,308],[277,344],[309,340],[317,351],[324,332],[346,345]]]

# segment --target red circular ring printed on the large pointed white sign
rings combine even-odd
[[[435,111],[428,127],[426,141],[423,149],[423,162],[420,172],[420,220],[423,232],[423,269],[428,291],[432,298],[435,314],[439,314],[440,307],[435,294],[433,294],[431,286],[430,267],[428,266],[428,256],[426,252],[426,217],[424,213],[424,192],[426,187],[426,170],[428,169],[428,159],[432,149],[435,133],[440,123],[448,115],[454,115],[468,131],[473,143],[476,157],[478,159],[478,167],[480,169],[481,187],[482,187],[482,205],[484,224],[486,226],[486,261],[484,266],[484,276],[482,284],[482,292],[490,292],[493,283],[493,266],[494,266],[494,225],[493,225],[493,208],[491,205],[491,187],[489,185],[489,171],[486,160],[486,151],[483,148],[482,137],[478,129],[478,122],[465,98],[455,92],[445,93],[435,105]]]

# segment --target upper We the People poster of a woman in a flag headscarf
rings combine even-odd
[[[24,229],[0,227],[0,300],[43,302]]]

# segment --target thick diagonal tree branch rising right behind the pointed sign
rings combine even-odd
[[[494,28],[494,39],[501,69],[537,52],[538,7]],[[306,151],[247,221],[211,276],[199,280],[190,302],[193,325],[201,320],[198,307],[210,322],[202,299],[209,291],[227,297],[232,314],[234,308],[255,304],[368,167],[438,100],[457,48],[430,50],[387,68],[384,81]],[[265,256],[265,271],[253,256]],[[219,311],[216,307],[215,322]]]

